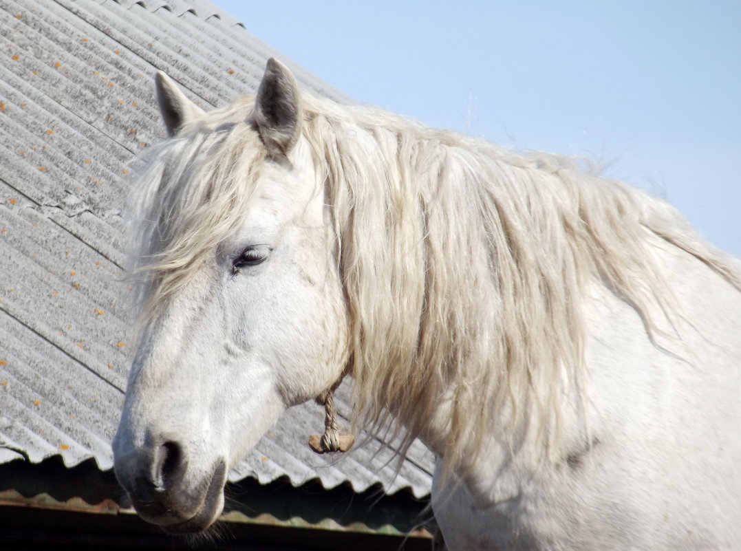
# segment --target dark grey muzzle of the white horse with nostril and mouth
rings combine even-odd
[[[129,494],[136,512],[166,532],[205,530],[222,511],[226,464],[216,461],[213,474],[193,480],[187,453],[175,441],[116,454],[116,478]]]

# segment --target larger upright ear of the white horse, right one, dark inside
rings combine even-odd
[[[288,67],[268,59],[255,98],[255,123],[271,155],[287,155],[301,135],[301,93]]]

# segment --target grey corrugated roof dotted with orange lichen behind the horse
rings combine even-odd
[[[0,463],[61,455],[108,470],[131,352],[127,167],[165,138],[153,74],[208,110],[255,93],[276,56],[305,90],[350,100],[202,0],[0,0],[0,31]],[[429,493],[422,444],[394,476],[375,439],[339,461],[315,455],[306,441],[322,428],[315,404],[290,410],[230,479]]]

